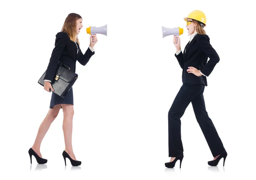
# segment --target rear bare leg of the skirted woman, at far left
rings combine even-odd
[[[42,140],[44,139],[45,134],[50,128],[50,125],[54,121],[54,119],[58,116],[58,112],[61,109],[61,105],[55,105],[52,109],[50,108],[46,117],[44,118],[43,122],[41,123],[38,134],[35,138],[34,145],[32,146],[32,149],[38,154],[39,157],[42,157],[40,153],[40,146],[42,143]]]

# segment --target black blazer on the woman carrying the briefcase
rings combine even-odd
[[[77,47],[79,49],[78,53]],[[85,66],[94,53],[88,47],[87,51],[83,54],[78,43],[71,41],[66,32],[58,32],[55,39],[55,48],[52,50],[44,79],[53,81],[60,63],[67,65],[70,67],[70,70],[76,72],[76,60]]]

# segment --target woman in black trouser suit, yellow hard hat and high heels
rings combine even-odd
[[[180,49],[180,38],[174,36],[173,43],[176,47],[175,57],[180,64],[182,71],[183,85],[180,87],[177,96],[168,113],[169,130],[169,163],[165,163],[167,168],[173,168],[177,160],[183,160],[183,145],[180,135],[180,118],[183,116],[186,107],[192,103],[192,107],[203,131],[204,137],[209,145],[214,159],[208,164],[218,165],[223,157],[224,162],[227,152],[221,142],[220,137],[209,118],[204,103],[204,87],[207,86],[207,79],[219,62],[219,56],[212,48],[209,37],[204,31],[206,26],[206,17],[203,12],[195,10],[185,17],[187,29],[190,35],[190,41],[186,45],[184,52]],[[209,57],[209,61],[207,59]],[[223,163],[224,166],[224,163]]]

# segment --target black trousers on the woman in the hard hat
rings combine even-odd
[[[195,117],[203,131],[212,156],[218,156],[226,151],[206,111],[203,95],[204,87],[204,84],[183,84],[180,87],[168,113],[169,157],[183,156],[180,118],[183,116],[190,102],[192,102]]]

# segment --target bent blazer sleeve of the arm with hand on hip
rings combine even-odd
[[[220,58],[215,49],[213,49],[212,45],[210,44],[210,38],[208,35],[200,35],[197,38],[197,43],[199,49],[201,49],[201,51],[203,51],[209,58],[209,61],[204,66],[204,68],[201,69],[201,72],[204,75],[209,76],[212,73],[215,65],[220,61]]]

